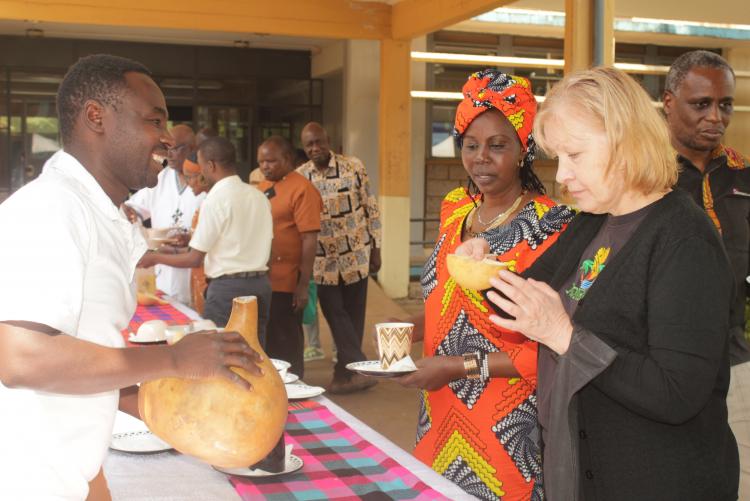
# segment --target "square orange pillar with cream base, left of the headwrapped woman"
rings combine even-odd
[[[383,267],[378,281],[390,297],[409,289],[411,42],[380,42],[380,211]]]

